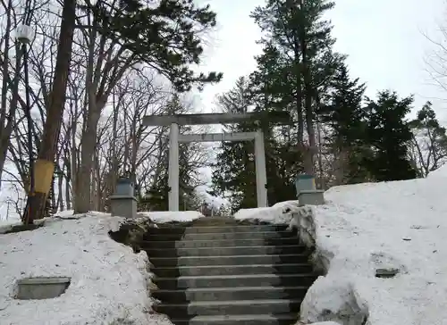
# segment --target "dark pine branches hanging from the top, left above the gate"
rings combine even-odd
[[[95,28],[130,53],[129,62],[148,63],[171,80],[178,91],[192,85],[222,79],[222,73],[195,73],[190,64],[199,64],[203,47],[201,33],[215,27],[215,12],[209,4],[198,7],[193,0],[143,0],[80,6],[95,16]],[[117,76],[116,76],[117,77]]]

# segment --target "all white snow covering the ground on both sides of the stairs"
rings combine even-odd
[[[326,204],[297,202],[242,210],[256,218],[298,226],[327,274],[309,289],[302,321],[367,325],[447,325],[447,168],[427,179],[333,187]],[[153,221],[192,221],[196,212],[145,213]],[[66,215],[63,215],[66,218]],[[122,218],[89,213],[75,220],[46,221],[33,231],[0,235],[0,323],[171,324],[151,312],[146,253],[114,242],[107,232]],[[396,269],[391,279],[377,269]],[[14,282],[31,276],[69,276],[63,296],[13,299]],[[349,322],[354,321],[354,322]]]

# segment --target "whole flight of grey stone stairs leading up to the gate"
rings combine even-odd
[[[294,324],[316,275],[285,228],[205,218],[150,229],[154,309],[176,325]]]

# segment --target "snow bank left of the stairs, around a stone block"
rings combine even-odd
[[[0,235],[2,324],[171,324],[152,312],[145,252],[114,242],[109,230],[123,221],[105,213],[46,219],[32,231]],[[66,292],[46,300],[15,300],[15,281],[71,277]]]

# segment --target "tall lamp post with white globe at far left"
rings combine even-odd
[[[17,27],[16,38],[19,43],[21,43],[21,54],[18,54],[18,58],[23,56],[23,72],[24,72],[24,81],[25,81],[25,99],[26,99],[26,110],[25,117],[27,119],[28,126],[28,154],[30,155],[30,192],[29,196],[34,196],[35,192],[35,179],[34,179],[34,158],[32,152],[32,119],[31,119],[31,106],[30,106],[30,74],[28,71],[28,49],[27,45],[29,45],[35,36],[35,31],[30,27],[30,25],[22,24]],[[30,205],[30,204],[27,204]],[[23,212],[23,223],[29,224],[33,223],[30,220],[30,206],[25,208]]]

